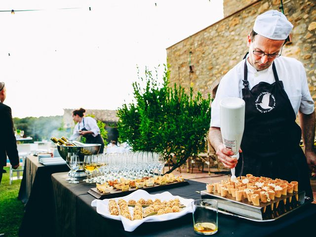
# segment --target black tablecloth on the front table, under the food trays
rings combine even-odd
[[[133,236],[177,237],[200,236],[193,230],[192,214],[166,222],[143,223],[134,232],[125,232],[120,221],[106,219],[91,207],[95,199],[87,194],[94,185],[83,183],[71,185],[64,181],[65,174],[53,174],[52,181],[56,201],[58,237],[63,236]],[[205,184],[189,181],[188,186],[166,189],[173,195],[200,198],[195,191],[205,190]],[[60,194],[66,194],[60,198]],[[149,192],[151,194],[161,193]],[[57,196],[57,197],[56,197]],[[67,198],[67,199],[65,199]],[[311,232],[316,218],[316,205],[309,204],[273,222],[253,222],[219,213],[219,231],[216,236],[284,236]]]

